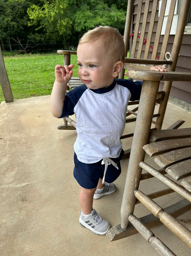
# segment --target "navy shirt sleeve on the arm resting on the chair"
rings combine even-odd
[[[117,83],[126,87],[129,89],[131,93],[131,98],[130,100],[139,100],[140,99],[140,93],[142,89],[142,81],[135,81],[133,82],[130,79],[117,79]]]

